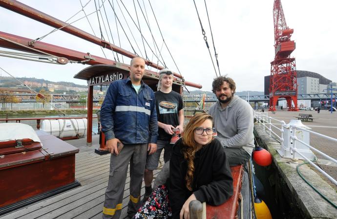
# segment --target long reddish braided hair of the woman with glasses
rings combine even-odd
[[[195,158],[195,152],[197,150],[197,144],[194,140],[194,130],[196,127],[200,126],[207,119],[210,119],[213,123],[212,117],[207,113],[200,113],[193,116],[185,128],[182,138],[184,144],[184,147],[182,148],[182,153],[184,159],[187,160],[187,172],[185,176],[186,187],[190,191],[192,191],[192,182],[194,174],[193,160]]]

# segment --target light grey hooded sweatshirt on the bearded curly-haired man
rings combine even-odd
[[[229,105],[222,109],[219,100],[214,103],[209,112],[214,119],[217,139],[225,147],[242,147],[252,155],[254,146],[253,108],[237,96],[233,96]]]

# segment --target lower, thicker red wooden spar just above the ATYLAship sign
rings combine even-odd
[[[1,2],[1,0],[0,0],[0,2]],[[87,60],[86,58],[84,58],[84,56],[88,56],[87,53],[79,52],[79,51],[72,50],[72,49],[67,49],[67,48],[64,48],[64,47],[61,47],[61,46],[56,46],[56,45],[41,42],[41,41],[36,41],[34,43],[34,46],[31,46],[31,45],[29,45],[29,42],[32,41],[32,39],[16,36],[16,35],[13,35],[13,34],[8,34],[8,33],[1,32],[1,31],[0,31],[0,37],[11,40],[11,41],[15,41],[15,42],[20,43],[22,45],[40,50],[40,51],[45,52],[45,53],[49,53],[49,54],[54,55],[54,56],[67,58],[68,60],[84,61],[84,60]],[[13,44],[11,42],[8,42],[6,40],[1,40],[1,39],[0,39],[0,47],[20,50],[20,51],[30,52],[30,53],[37,53],[33,50],[30,50],[29,48],[25,48],[25,47],[22,47],[22,46],[19,46],[19,45],[16,45],[16,44]],[[95,64],[114,65],[114,64],[116,64],[116,62],[113,61],[113,60],[108,60],[108,59],[101,58],[101,57],[98,57],[98,56],[93,56],[93,55],[91,55],[91,57],[94,58],[95,60],[88,60],[88,61],[85,62],[85,64],[89,64],[89,65],[95,65]],[[153,75],[158,75],[156,72],[153,72],[153,71],[146,70],[146,72],[151,73]],[[193,83],[193,82],[190,82],[190,81],[186,81],[186,80],[185,80],[185,85],[190,86],[190,87],[199,88],[199,89],[202,88],[202,85],[197,84],[197,83]]]

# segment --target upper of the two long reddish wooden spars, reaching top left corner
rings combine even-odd
[[[8,10],[14,11],[18,14],[21,14],[23,16],[26,16],[28,18],[37,20],[39,22],[42,22],[44,24],[47,24],[49,26],[55,27],[55,28],[62,28],[61,30],[72,34],[76,37],[82,38],[84,40],[90,41],[92,43],[95,43],[97,45],[100,45],[104,48],[110,49],[114,52],[120,53],[123,56],[126,56],[128,58],[134,58],[137,57],[137,55],[130,53],[118,46],[115,46],[114,44],[111,44],[105,40],[102,40],[98,37],[95,37],[79,28],[76,28],[72,25],[68,25],[66,22],[63,22],[62,20],[58,20],[50,15],[47,15],[39,10],[36,10],[32,7],[29,7],[28,5],[22,4],[21,2],[17,1],[17,0],[0,0],[0,6],[3,8],[6,8]],[[157,65],[149,60],[145,60],[146,64],[157,68],[159,70],[164,69],[165,67]],[[173,75],[177,78],[182,78],[181,75],[177,74],[177,73],[173,73]]]

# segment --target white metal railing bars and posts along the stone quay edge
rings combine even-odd
[[[292,158],[295,159],[296,158],[296,153],[304,160],[306,160],[307,162],[309,162],[313,167],[316,168],[317,171],[319,171],[321,174],[323,174],[325,177],[327,177],[328,179],[330,179],[335,185],[337,185],[337,180],[332,178],[329,174],[327,174],[326,172],[324,172],[321,168],[319,168],[312,160],[310,160],[307,156],[305,156],[300,150],[298,150],[298,148],[296,148],[296,142],[301,143],[302,145],[305,145],[308,149],[311,149],[313,151],[315,151],[316,153],[320,154],[321,156],[323,156],[325,159],[328,159],[334,163],[337,164],[337,160],[324,154],[323,152],[317,150],[316,148],[314,148],[312,145],[306,143],[305,141],[298,139],[298,137],[296,136],[296,130],[300,130],[302,132],[307,132],[316,136],[319,136],[323,139],[328,139],[331,141],[335,141],[337,142],[337,139],[331,138],[329,136],[326,135],[322,135],[320,133],[314,132],[314,131],[310,131],[306,128],[303,127],[299,127],[297,125],[289,125],[289,131],[291,133],[290,138],[289,139],[284,139],[284,131],[285,128],[288,129],[288,127],[286,127],[286,123],[283,120],[278,120],[278,119],[274,119],[272,117],[268,116],[268,113],[259,113],[259,112],[254,112],[254,118],[256,119],[256,121],[259,123],[260,126],[263,126],[263,130],[265,130],[266,132],[269,132],[269,136],[272,136],[272,134],[274,135],[274,137],[276,137],[277,139],[280,140],[281,143],[281,147],[288,147],[291,154],[292,154]],[[278,128],[275,126],[275,123],[272,123],[272,120],[278,121],[281,124],[281,128]],[[281,136],[278,136],[273,130],[272,127],[274,127],[275,129],[279,130],[281,132]],[[285,142],[285,141],[289,141],[289,142]],[[291,145],[291,146],[285,146],[286,145]]]

